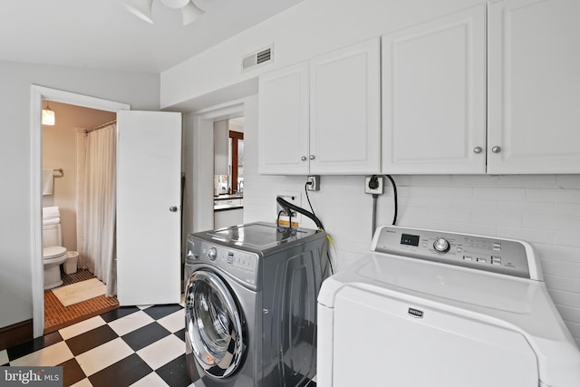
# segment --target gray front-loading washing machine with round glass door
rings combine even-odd
[[[263,222],[189,235],[186,359],[196,387],[311,381],[327,249],[324,231]]]

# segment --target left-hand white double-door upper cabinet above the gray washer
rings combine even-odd
[[[372,39],[260,76],[260,173],[380,172],[380,48]]]

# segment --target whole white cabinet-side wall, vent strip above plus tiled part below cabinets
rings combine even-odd
[[[162,73],[161,105],[203,105],[205,96],[260,73],[479,3],[483,2],[304,0]],[[244,54],[272,43],[275,63],[240,73]],[[303,191],[304,177],[257,174],[256,111],[245,114],[244,221],[274,220],[275,193]],[[533,243],[542,254],[549,292],[580,343],[580,176],[394,179],[400,185],[399,225],[516,237]],[[372,198],[363,193],[362,177],[324,176],[321,191],[311,197],[316,215],[336,241],[338,268],[368,251]],[[391,199],[391,189],[379,199],[379,224],[391,221]]]

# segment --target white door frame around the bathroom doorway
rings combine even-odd
[[[43,286],[43,223],[42,184],[43,169],[43,125],[41,114],[43,100],[68,103],[101,111],[131,110],[131,105],[123,102],[103,100],[88,95],[65,92],[32,84],[30,88],[30,230],[31,230],[31,279],[33,295],[33,335],[43,335],[44,331],[44,286]]]

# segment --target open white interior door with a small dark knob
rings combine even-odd
[[[117,122],[119,304],[177,304],[181,114],[120,111]]]

